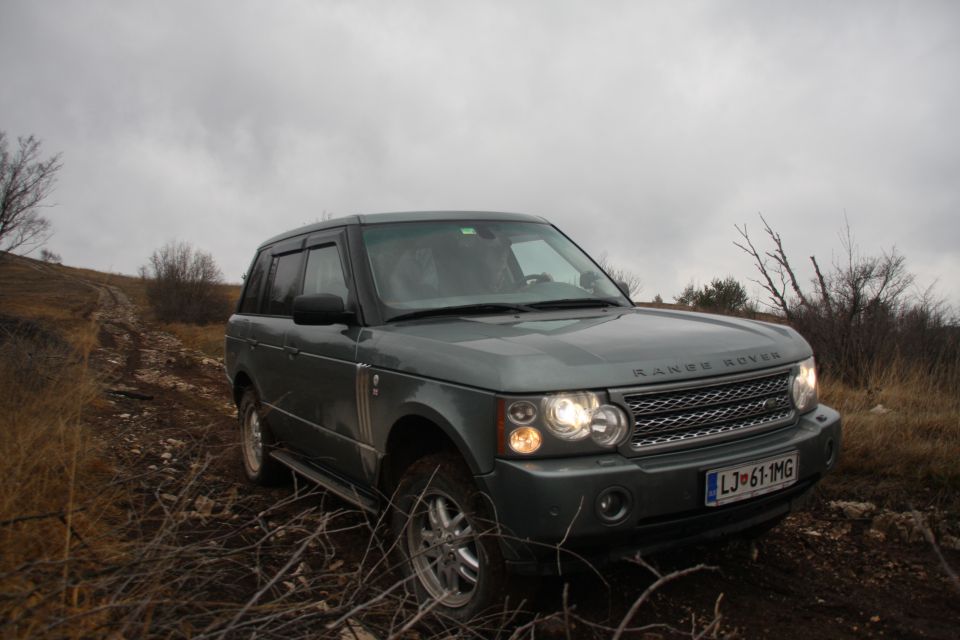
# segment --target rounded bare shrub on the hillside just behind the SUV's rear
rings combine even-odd
[[[223,274],[213,256],[186,242],[169,242],[140,268],[157,320],[205,324],[229,315]]]

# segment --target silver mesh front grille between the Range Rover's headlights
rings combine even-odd
[[[631,446],[644,449],[751,431],[793,420],[790,372],[703,387],[628,394],[633,412]]]

